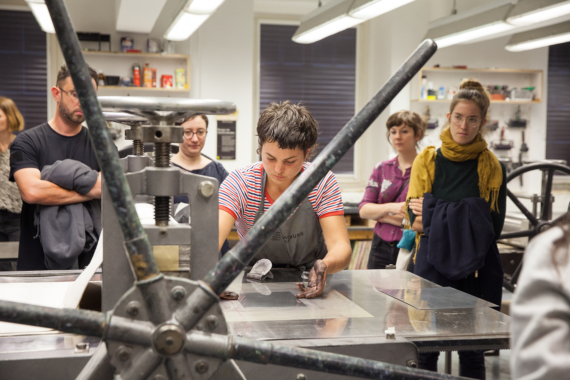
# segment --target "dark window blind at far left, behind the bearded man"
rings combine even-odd
[[[31,12],[0,10],[0,36],[0,96],[14,100],[25,129],[46,122],[46,33]]]

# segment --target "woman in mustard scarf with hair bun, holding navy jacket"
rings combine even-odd
[[[416,234],[414,273],[500,305],[503,266],[496,247],[506,210],[506,169],[487,148],[482,129],[490,97],[478,80],[463,80],[440,134],[414,160],[405,211]],[[437,371],[439,353],[420,354]],[[483,352],[460,351],[459,374],[484,379]]]

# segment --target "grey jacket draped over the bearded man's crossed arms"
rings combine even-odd
[[[67,158],[42,169],[42,179],[67,190],[85,195],[97,182],[96,170]],[[34,226],[42,243],[46,267],[68,269],[78,256],[97,246],[101,233],[101,201],[72,203],[63,206],[38,205]]]

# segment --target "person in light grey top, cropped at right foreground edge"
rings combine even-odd
[[[513,379],[567,379],[570,371],[570,223],[532,239],[512,300]]]

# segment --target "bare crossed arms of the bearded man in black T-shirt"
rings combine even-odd
[[[27,203],[46,206],[70,205],[101,198],[101,172],[95,186],[85,195],[77,191],[66,190],[50,181],[43,181],[39,169],[25,167],[14,173],[22,199]]]

